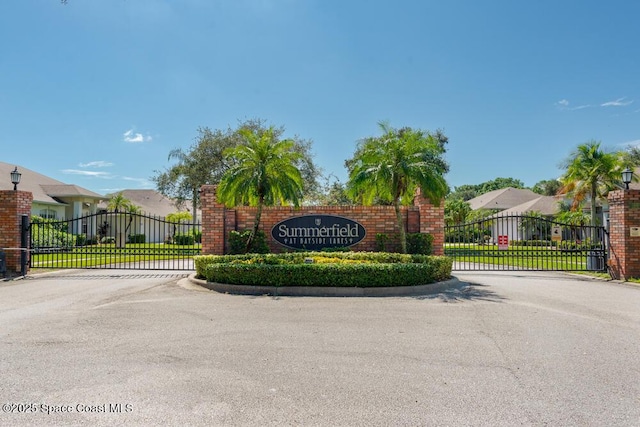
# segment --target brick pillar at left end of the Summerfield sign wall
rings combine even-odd
[[[215,185],[202,186],[200,203],[202,205],[202,254],[223,255],[225,207],[218,203]]]

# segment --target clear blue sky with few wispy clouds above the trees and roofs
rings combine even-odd
[[[640,144],[639,16],[628,0],[6,0],[0,161],[153,188],[198,127],[261,118],[344,182],[385,120],[443,129],[452,187],[532,186],[587,140]]]

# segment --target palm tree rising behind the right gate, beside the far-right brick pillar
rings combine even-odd
[[[587,141],[578,145],[564,163],[565,173],[560,178],[563,186],[560,194],[573,196],[572,209],[579,208],[585,198],[591,206],[591,225],[596,225],[596,202],[607,196],[620,181],[622,170],[618,153],[606,152],[599,141]]]

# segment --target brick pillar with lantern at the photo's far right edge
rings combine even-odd
[[[611,191],[608,199],[609,265],[616,278],[640,277],[640,236],[631,235],[640,227],[640,190]]]

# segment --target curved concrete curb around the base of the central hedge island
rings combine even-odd
[[[429,295],[444,292],[460,285],[460,281],[453,277],[444,282],[430,283],[420,286],[395,286],[376,288],[340,288],[320,286],[247,286],[212,283],[196,279],[196,275],[189,275],[188,280],[209,290],[233,295],[271,295],[287,297],[404,297]]]

